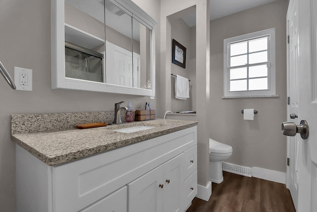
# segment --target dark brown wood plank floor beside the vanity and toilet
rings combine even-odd
[[[187,212],[296,212],[285,184],[223,172],[208,202],[195,198]]]

